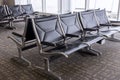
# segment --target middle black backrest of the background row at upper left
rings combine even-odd
[[[8,6],[8,13],[13,17],[18,17],[23,14],[20,5]]]

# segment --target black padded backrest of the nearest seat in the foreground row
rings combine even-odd
[[[36,18],[33,20],[33,25],[39,44],[41,42],[57,43],[63,39],[57,16]]]

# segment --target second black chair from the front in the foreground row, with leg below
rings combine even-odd
[[[92,49],[91,45],[103,40],[103,37],[99,35],[86,34],[86,29],[82,28],[82,25],[78,19],[77,14],[67,14],[59,16],[60,24],[66,34],[66,37],[75,37],[80,39],[80,42],[88,45],[87,50],[91,54],[100,55],[101,53]],[[93,28],[90,29],[90,31]]]

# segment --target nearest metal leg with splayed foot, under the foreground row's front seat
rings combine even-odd
[[[44,59],[44,63],[45,63],[45,68],[41,68],[38,66],[34,66],[34,70],[38,73],[40,73],[41,75],[47,76],[50,80],[62,80],[61,77],[59,77],[58,75],[56,75],[55,73],[53,73],[50,70],[50,65],[49,65],[49,59],[45,58]]]

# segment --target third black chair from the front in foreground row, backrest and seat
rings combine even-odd
[[[110,37],[112,34],[115,34],[116,30],[109,30],[108,28],[103,28],[99,25],[96,20],[96,16],[94,11],[89,12],[81,12],[78,13],[79,19],[83,25],[83,29],[86,32],[90,32],[92,34],[98,34],[100,36]]]

